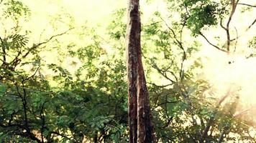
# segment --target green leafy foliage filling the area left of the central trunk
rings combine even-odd
[[[4,5],[5,16],[17,23],[29,13],[20,1]],[[8,33],[1,37],[1,142],[127,139],[125,66],[120,57],[100,60],[106,52],[95,38],[92,44],[69,51],[85,63],[73,75],[58,63],[46,64],[40,55],[52,39],[65,33],[32,46],[22,31]],[[52,70],[51,78],[45,68]],[[52,87],[52,80],[58,87]]]

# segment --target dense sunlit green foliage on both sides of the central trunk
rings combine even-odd
[[[201,49],[198,36],[206,38],[208,29],[221,29],[219,24],[229,18],[231,4],[224,0],[165,2],[167,14],[155,11],[150,22],[142,25],[158,141],[255,142],[250,134],[255,127],[253,117],[244,120],[234,115],[239,95],[231,93],[219,100],[206,94],[211,85],[197,76],[204,61],[193,56]],[[104,39],[91,29],[70,24],[68,31],[32,43],[31,31],[19,25],[29,21],[29,7],[18,0],[2,0],[0,6],[0,19],[12,21],[11,28],[1,26],[0,34],[0,141],[128,142],[126,24],[122,21],[126,9],[113,14]],[[171,19],[175,14],[178,19]],[[58,41],[74,33],[91,41],[82,46]],[[219,41],[224,46],[215,48],[227,51],[225,42]],[[209,48],[214,46],[209,42]],[[255,49],[255,37],[248,46]],[[60,62],[44,59],[46,51],[58,51]],[[66,57],[77,60],[71,64],[79,66],[74,73],[63,66]],[[186,61],[192,64],[185,66]]]

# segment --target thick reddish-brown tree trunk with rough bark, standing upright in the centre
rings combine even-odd
[[[129,0],[127,22],[129,142],[150,143],[156,141],[151,121],[152,114],[150,111],[149,94],[142,66],[139,8],[139,0]]]

